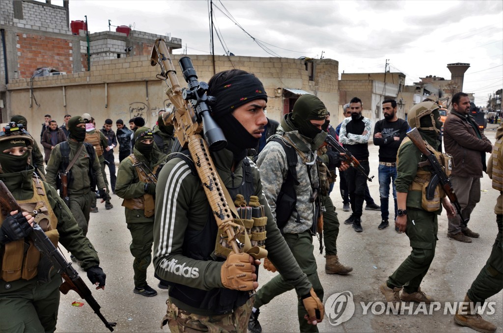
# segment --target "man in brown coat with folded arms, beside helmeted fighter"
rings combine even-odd
[[[480,133],[470,115],[470,99],[465,93],[452,98],[453,109],[444,124],[445,151],[453,157],[451,181],[461,205],[463,218],[469,219],[480,201],[480,178],[486,171],[485,153],[492,151],[492,144]],[[478,233],[470,230],[457,214],[449,218],[447,237],[471,243]],[[470,238],[471,237],[471,238]]]

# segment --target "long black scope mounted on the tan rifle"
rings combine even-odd
[[[182,97],[186,101],[191,101],[196,118],[203,122],[204,139],[212,151],[217,151],[225,148],[227,140],[223,135],[222,129],[218,127],[217,123],[211,118],[210,107],[208,101],[212,98],[206,95],[208,84],[206,82],[198,82],[196,70],[189,57],[182,57],[178,61],[185,81],[189,85],[189,89],[184,89]]]

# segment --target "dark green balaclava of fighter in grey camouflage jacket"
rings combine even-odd
[[[314,139],[322,130],[311,124],[310,120],[325,120],[326,113],[326,107],[319,98],[306,94],[293,105],[291,120],[301,135]]]

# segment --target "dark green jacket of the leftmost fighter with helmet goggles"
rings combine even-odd
[[[31,180],[33,171],[34,169],[31,167],[29,170],[20,173],[0,174],[0,180],[5,183],[16,200],[28,200],[33,198],[33,182]],[[100,265],[100,260],[98,259],[98,254],[93,244],[83,235],[82,229],[77,225],[70,209],[66,207],[53,187],[45,182],[43,182],[43,184],[49,205],[58,220],[56,228],[59,232],[59,242],[71,252],[77,260],[82,262],[81,267],[83,270],[88,270],[91,267]],[[3,245],[0,245],[0,252],[2,252],[2,247]],[[54,276],[56,272],[53,270],[52,274]],[[36,282],[37,278],[28,281],[20,279],[9,282],[11,284],[9,292],[29,285],[31,286]],[[6,282],[0,279],[0,294],[6,290],[4,288],[5,284]]]

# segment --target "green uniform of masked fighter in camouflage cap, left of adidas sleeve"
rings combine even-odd
[[[135,137],[148,128],[141,127],[136,130]],[[131,254],[134,257],[134,285],[136,288],[142,288],[147,285],[147,267],[152,261],[152,243],[153,243],[153,225],[154,225],[154,199],[153,196],[145,192],[145,185],[152,186],[151,191],[155,191],[155,183],[145,177],[144,172],[149,174],[151,170],[155,175],[158,165],[164,161],[164,154],[152,149],[148,158],[137,149],[137,144],[133,149],[133,154],[124,158],[119,165],[117,172],[117,183],[115,184],[115,193],[123,198],[122,205],[125,207],[127,228],[131,232],[132,242],[129,246]],[[143,162],[147,168],[133,166],[133,160]],[[139,178],[139,174],[142,180]],[[155,177],[149,174],[155,180]],[[148,208],[148,204],[151,207]]]

